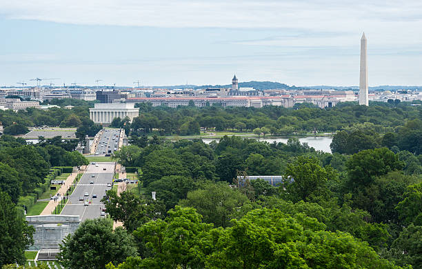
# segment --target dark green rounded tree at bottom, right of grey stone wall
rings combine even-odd
[[[63,239],[59,263],[66,268],[104,268],[107,263],[121,263],[136,256],[132,235],[123,228],[113,231],[110,219],[87,219]]]

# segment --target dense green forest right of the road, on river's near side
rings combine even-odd
[[[408,121],[406,126],[414,126]],[[396,126],[397,130],[402,128]],[[382,140],[382,139],[381,139]],[[374,147],[352,155],[223,137],[137,137],[114,158],[139,167],[141,193],[108,192],[125,254],[68,237],[69,268],[420,268],[422,158]],[[417,168],[415,168],[417,167]],[[280,186],[238,175],[283,175]],[[237,188],[233,188],[237,186]],[[157,192],[157,201],[150,197]],[[108,226],[111,238],[117,237]],[[114,231],[114,232],[117,232]],[[92,239],[89,239],[92,237]],[[85,246],[101,261],[81,262]],[[122,262],[124,260],[124,262]],[[93,259],[94,261],[94,259]],[[401,267],[400,267],[401,266]]]

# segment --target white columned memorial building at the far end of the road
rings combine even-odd
[[[134,108],[134,103],[95,103],[94,108],[90,108],[90,119],[94,123],[110,124],[114,118],[124,119],[128,117],[130,121],[139,116],[139,109]]]

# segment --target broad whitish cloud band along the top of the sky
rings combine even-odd
[[[350,30],[366,23],[421,21],[417,0],[34,0],[0,1],[10,19],[169,28]]]

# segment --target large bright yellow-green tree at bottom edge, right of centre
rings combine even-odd
[[[217,268],[398,268],[368,243],[279,210],[252,210],[221,231],[205,266]]]

